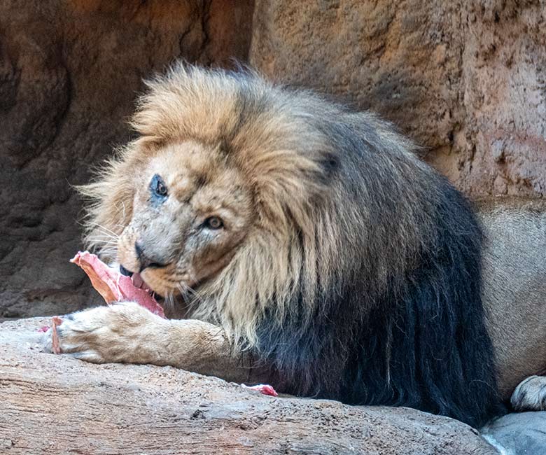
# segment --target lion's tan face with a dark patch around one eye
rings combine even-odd
[[[255,210],[225,151],[186,141],[161,146],[134,176],[132,220],[118,261],[160,295],[183,293],[228,264]]]

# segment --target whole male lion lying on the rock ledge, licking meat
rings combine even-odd
[[[530,361],[525,294],[501,295],[470,202],[392,125],[249,69],[179,63],[147,85],[137,138],[81,188],[85,239],[179,318],[79,311],[64,353],[474,427],[546,366],[544,318]]]

